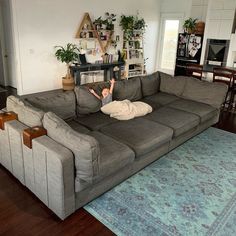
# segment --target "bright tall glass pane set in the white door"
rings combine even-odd
[[[173,71],[176,59],[179,20],[165,20],[163,23],[161,69]]]

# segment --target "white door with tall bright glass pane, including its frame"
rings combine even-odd
[[[168,74],[174,74],[178,33],[181,27],[182,18],[163,17],[161,18],[161,40],[159,47],[158,68]]]

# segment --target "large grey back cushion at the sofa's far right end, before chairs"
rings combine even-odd
[[[226,84],[200,81],[190,77],[187,79],[182,96],[219,109],[225,100],[227,90]]]

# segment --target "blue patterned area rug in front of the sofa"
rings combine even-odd
[[[209,128],[85,209],[117,235],[236,235],[236,135]]]

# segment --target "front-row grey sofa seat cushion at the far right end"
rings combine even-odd
[[[168,107],[198,115],[201,118],[201,123],[211,119],[218,113],[218,110],[212,106],[186,99],[179,99],[177,101],[174,101],[168,104]]]

